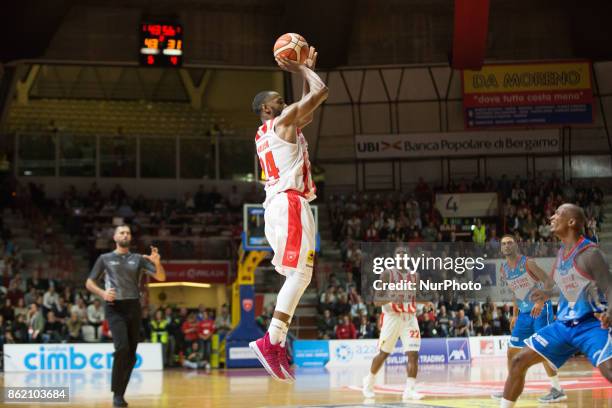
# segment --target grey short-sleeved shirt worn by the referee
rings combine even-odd
[[[102,254],[96,260],[89,278],[97,281],[104,274],[104,290],[114,288],[115,299],[139,299],[141,273],[155,275],[155,265],[140,254],[118,254],[115,251]]]

